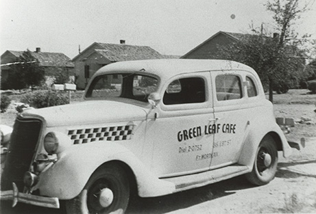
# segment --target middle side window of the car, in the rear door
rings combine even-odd
[[[217,101],[229,101],[243,97],[241,79],[236,75],[219,75],[215,79]]]

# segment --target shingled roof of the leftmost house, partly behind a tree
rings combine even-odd
[[[5,53],[12,53],[16,57],[20,57],[24,51],[5,51]],[[5,54],[3,53],[3,55]],[[40,66],[49,67],[74,67],[71,59],[64,55],[64,53],[50,53],[50,52],[30,52],[31,55],[38,59]],[[2,57],[2,55],[1,55]]]

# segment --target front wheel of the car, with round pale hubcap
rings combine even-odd
[[[117,164],[103,165],[72,200],[66,201],[67,214],[122,214],[130,199],[127,174]]]

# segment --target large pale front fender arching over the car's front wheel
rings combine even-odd
[[[40,174],[34,189],[39,189],[43,196],[60,200],[75,198],[100,165],[116,160],[126,163],[133,171],[139,196],[162,196],[174,191],[173,183],[158,179],[130,150],[114,142],[71,146],[56,163]]]

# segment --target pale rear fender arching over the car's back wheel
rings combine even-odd
[[[250,124],[247,133],[245,135],[243,150],[239,157],[238,163],[241,165],[247,165],[252,169],[254,160],[256,159],[256,150],[265,135],[271,134],[276,136],[277,144],[282,144],[283,157],[289,157],[291,155],[291,147],[289,146],[284,133],[280,129],[280,126],[276,124],[275,120],[267,120],[267,118],[257,118],[255,124]]]

